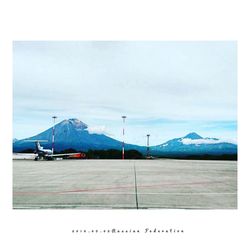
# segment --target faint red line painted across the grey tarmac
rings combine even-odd
[[[216,184],[223,183],[222,181],[207,181],[207,182],[186,182],[186,183],[161,183],[153,185],[141,185],[137,188],[157,188],[157,187],[167,187],[167,186],[185,186],[185,185],[203,185],[203,184]],[[75,190],[65,190],[58,192],[13,192],[13,195],[58,195],[67,193],[84,193],[84,192],[98,192],[105,190],[118,190],[118,189],[134,189],[134,185],[131,186],[115,186],[115,187],[105,187],[105,188],[93,188],[93,189],[75,189]]]

